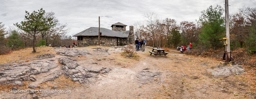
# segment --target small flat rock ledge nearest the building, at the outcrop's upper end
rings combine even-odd
[[[86,50],[63,48],[63,50],[58,51],[57,54],[64,55],[64,56],[78,57],[78,56],[86,56],[88,52]]]

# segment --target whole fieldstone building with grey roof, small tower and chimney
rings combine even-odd
[[[129,26],[130,31],[126,31],[126,26],[120,22],[111,25],[112,30],[100,28],[101,46],[123,46],[134,44],[133,26]],[[77,46],[98,45],[99,27],[90,27],[73,37],[77,37]]]

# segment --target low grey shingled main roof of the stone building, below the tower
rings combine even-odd
[[[109,36],[109,37],[119,37],[119,38],[127,38],[130,31],[113,31],[106,28],[100,28],[101,36]],[[78,36],[98,36],[99,28],[98,27],[90,27],[82,32],[73,35],[73,37]]]

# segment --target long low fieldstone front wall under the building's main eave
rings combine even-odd
[[[100,37],[100,46],[116,46],[116,42],[117,37]],[[83,36],[83,40],[77,40],[78,47],[97,46],[98,44],[98,36]]]

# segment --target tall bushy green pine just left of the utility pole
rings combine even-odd
[[[212,47],[214,50],[220,47],[221,38],[225,37],[225,18],[222,16],[224,9],[217,5],[215,8],[212,5],[202,11],[198,23],[202,26],[202,33],[199,34],[205,48]]]

